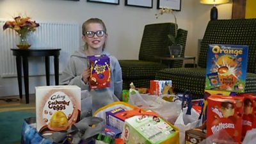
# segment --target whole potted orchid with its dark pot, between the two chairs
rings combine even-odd
[[[171,13],[175,20],[175,33],[174,35],[171,35],[171,34],[168,35],[168,39],[170,40],[170,46],[168,47],[170,51],[170,56],[172,58],[179,57],[182,52],[182,45],[179,45],[179,41],[182,35],[178,34],[178,24],[177,24],[175,11],[173,11],[171,8],[161,8],[159,12],[156,14],[156,19],[158,19],[158,17],[160,15],[163,15],[164,13]]]

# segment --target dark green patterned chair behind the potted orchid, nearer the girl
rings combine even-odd
[[[160,60],[154,56],[170,56],[168,45],[169,34],[175,33],[174,23],[147,24],[143,31],[141,39],[140,53],[138,60],[119,60],[122,68],[123,89],[129,89],[132,82],[136,87],[149,88],[150,79],[154,79],[156,72],[168,68],[167,63],[160,63]],[[180,45],[182,45],[182,56],[188,31],[179,29],[178,33],[182,35]],[[167,61],[166,61],[167,62]],[[182,67],[183,61],[175,61],[173,67]]]

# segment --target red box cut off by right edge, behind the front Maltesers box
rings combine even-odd
[[[242,138],[247,131],[256,128],[256,93],[241,93],[238,96],[244,97],[244,115]]]

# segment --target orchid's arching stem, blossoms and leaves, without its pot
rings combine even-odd
[[[168,35],[169,40],[172,42],[172,45],[178,45],[179,40],[180,40],[180,35],[178,35],[178,24],[177,24],[177,19],[176,19],[176,15],[175,15],[175,11],[173,11],[171,8],[161,8],[158,13],[156,13],[156,19],[158,19],[158,17],[160,15],[163,15],[164,13],[171,13],[174,17],[175,20],[175,35]]]

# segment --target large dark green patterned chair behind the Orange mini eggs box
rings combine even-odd
[[[190,90],[194,99],[202,99],[209,44],[249,46],[245,92],[256,92],[256,19],[209,21],[198,57],[200,68],[166,68],[156,74],[156,79],[172,79],[175,92]]]

